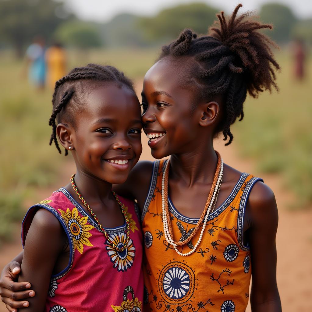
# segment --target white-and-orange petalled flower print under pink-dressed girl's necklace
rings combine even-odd
[[[114,242],[115,246],[121,248],[125,246],[126,234],[124,232],[111,234],[110,239]],[[106,245],[107,254],[110,256],[110,261],[113,262],[114,268],[117,268],[119,272],[124,272],[131,268],[135,254],[135,247],[131,239],[129,239],[124,251],[117,251],[109,241],[106,241]]]

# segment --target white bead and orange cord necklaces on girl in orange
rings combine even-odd
[[[164,235],[167,240],[167,242],[173,246],[174,250],[181,256],[189,256],[191,255],[196,248],[198,247],[200,241],[202,240],[202,236],[207,224],[209,213],[212,209],[212,205],[214,203],[213,209],[217,202],[217,197],[219,194],[220,185],[222,182],[222,176],[223,176],[223,160],[220,156],[220,154],[216,151],[216,154],[218,156],[218,163],[217,163],[217,170],[213,179],[212,188],[210,190],[204,211],[202,212],[202,216],[200,217],[199,221],[197,222],[196,227],[194,228],[194,231],[192,234],[184,241],[174,241],[173,240],[173,232],[171,227],[171,219],[169,215],[169,206],[168,206],[168,177],[169,177],[169,163],[170,160],[167,161],[164,171],[163,171],[163,179],[162,179],[162,210],[163,210],[163,229],[164,229]],[[203,225],[202,225],[203,222]],[[199,239],[197,243],[195,244],[194,248],[187,253],[182,253],[178,251],[178,246],[183,246],[190,242],[192,238],[195,236],[195,234],[198,232],[200,226],[202,225],[202,230],[199,236]]]

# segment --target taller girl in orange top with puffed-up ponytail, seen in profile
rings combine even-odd
[[[219,132],[232,142],[247,91],[277,88],[272,42],[258,32],[271,26],[236,17],[239,7],[228,20],[218,15],[210,36],[183,31],[144,78],[144,132],[155,158],[171,156],[138,163],[117,189],[142,212],[147,311],[241,312],[249,296],[253,311],[281,311],[274,194],[213,149]]]

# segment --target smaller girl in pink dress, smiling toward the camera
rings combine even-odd
[[[58,138],[72,153],[76,174],[22,222],[19,281],[36,292],[26,310],[141,311],[139,219],[133,202],[111,192],[142,152],[133,86],[116,68],[89,64],[56,83],[52,103],[50,144],[61,153]]]

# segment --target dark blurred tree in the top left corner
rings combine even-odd
[[[63,3],[52,0],[0,0],[0,38],[15,47],[17,56],[35,36],[49,41],[52,32],[63,22],[56,16]]]

